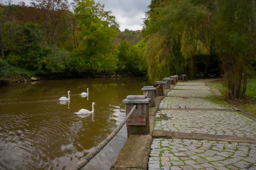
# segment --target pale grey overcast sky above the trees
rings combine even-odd
[[[13,0],[13,3],[25,2],[29,4],[29,0]],[[101,4],[105,4],[105,11],[112,11],[116,16],[116,22],[120,26],[120,30],[125,28],[129,30],[141,30],[145,11],[151,0],[95,0]],[[71,0],[69,0],[71,2]]]

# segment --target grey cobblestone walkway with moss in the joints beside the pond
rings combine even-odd
[[[203,82],[179,82],[161,103],[172,119],[156,121],[154,130],[256,137],[256,121],[235,111],[179,111],[186,108],[228,108],[204,98],[213,95]],[[181,90],[193,89],[193,90]],[[208,89],[208,90],[207,90]],[[189,99],[182,97],[187,96]],[[176,110],[164,110],[177,108]],[[256,144],[194,139],[153,139],[148,170],[256,170]]]

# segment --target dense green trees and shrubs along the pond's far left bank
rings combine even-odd
[[[142,39],[141,31],[120,32],[111,11],[94,0],[75,0],[72,6],[73,13],[67,10],[67,0],[32,0],[32,7],[0,6],[4,14],[0,20],[7,19],[0,22],[4,75],[14,75],[20,68],[41,77],[122,74],[116,72],[118,67],[124,74],[145,74],[143,43],[129,45],[124,52],[128,62],[119,62],[117,49],[121,39],[136,44]]]

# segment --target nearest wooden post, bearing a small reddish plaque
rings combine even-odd
[[[149,102],[151,99],[145,95],[127,96],[122,103],[126,104],[125,115],[127,116],[134,105],[137,108],[126,122],[127,136],[131,134],[146,135],[149,133]]]

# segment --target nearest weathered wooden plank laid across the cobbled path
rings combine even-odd
[[[206,133],[185,133],[185,132],[174,132],[174,131],[166,131],[166,130],[154,130],[152,137],[153,138],[201,139],[201,140],[213,140],[213,141],[256,143],[255,137],[212,135],[212,134],[206,134]]]

